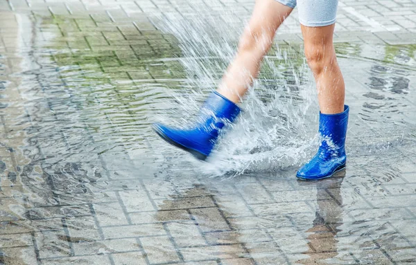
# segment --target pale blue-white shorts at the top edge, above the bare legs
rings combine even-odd
[[[322,27],[335,23],[338,0],[276,0],[299,11],[300,24]]]

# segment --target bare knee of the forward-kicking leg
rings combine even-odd
[[[239,52],[266,52],[273,42],[275,33],[261,27],[246,28],[239,42]]]

